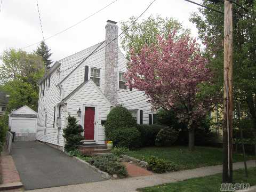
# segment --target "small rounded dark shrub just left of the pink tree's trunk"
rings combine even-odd
[[[170,146],[178,139],[179,132],[171,127],[161,129],[156,135],[156,146]]]

